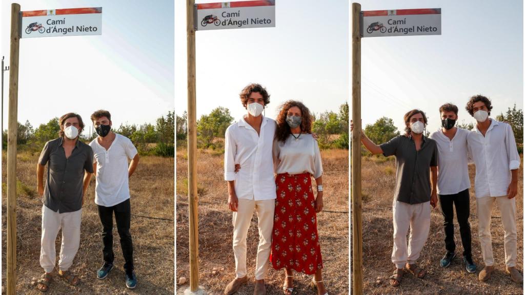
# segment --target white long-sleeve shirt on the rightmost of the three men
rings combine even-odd
[[[511,170],[520,167],[520,156],[512,127],[490,119],[490,127],[481,134],[477,126],[467,136],[468,149],[476,164],[476,197],[507,195]]]

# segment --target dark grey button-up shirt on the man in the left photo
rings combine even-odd
[[[62,140],[64,138],[46,142],[38,159],[43,166],[49,162],[43,202],[55,212],[75,212],[82,208],[84,171],[93,173],[93,150],[77,140],[71,155],[66,158]]]

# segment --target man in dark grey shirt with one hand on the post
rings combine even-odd
[[[430,206],[437,205],[438,150],[436,142],[423,135],[427,124],[426,115],[421,110],[412,110],[405,114],[404,120],[405,134],[381,145],[376,145],[361,133],[361,142],[372,154],[396,157],[392,251],[396,270],[390,277],[393,287],[400,285],[404,269],[417,278],[425,277],[426,271],[418,268],[415,262],[430,230]],[[411,232],[407,250],[408,229]]]

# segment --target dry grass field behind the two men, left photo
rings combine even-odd
[[[17,200],[17,294],[41,294],[36,286],[31,286],[32,278],[39,278],[41,233],[41,198],[36,193],[36,164],[38,154],[21,153],[17,157],[18,200]],[[3,153],[2,166],[2,277],[3,292],[6,286],[6,237],[7,237],[7,199],[6,153]],[[47,167],[46,167],[47,169]],[[115,268],[108,278],[98,280],[96,272],[102,265],[102,240],[100,220],[95,202],[95,178],[87,192],[82,210],[80,249],[70,268],[80,275],[76,287],[57,276],[54,272],[47,294],[173,294],[173,158],[156,156],[141,157],[139,166],[130,179],[131,191],[131,234],[133,237],[135,273],[137,288],[125,287],[124,259],[116,224],[113,225],[113,250]],[[46,173],[45,173],[46,175]],[[139,216],[141,215],[141,216]],[[146,216],[146,217],[143,217]],[[148,217],[164,218],[152,219]],[[57,260],[61,234],[57,238]],[[58,266],[58,261],[57,261]]]

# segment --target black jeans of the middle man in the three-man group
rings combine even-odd
[[[470,223],[470,195],[468,188],[463,192],[454,195],[438,195],[439,203],[443,213],[443,227],[445,228],[445,248],[447,251],[454,252],[456,243],[454,242],[454,207],[456,206],[456,217],[459,224],[459,234],[461,235],[461,244],[463,244],[463,255],[472,256]]]

